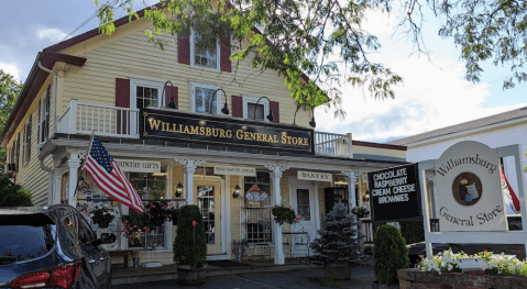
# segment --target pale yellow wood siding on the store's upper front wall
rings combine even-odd
[[[164,34],[164,51],[147,42],[143,31],[149,23],[145,20],[127,24],[111,36],[98,36],[86,43],[70,47],[63,53],[86,57],[81,68],[73,68],[64,78],[63,96],[59,99],[57,114],[67,108],[70,99],[83,102],[114,105],[116,78],[140,78],[165,82],[171,80],[178,87],[179,110],[189,111],[190,81],[221,87],[228,96],[266,96],[279,102],[281,123],[293,123],[295,101],[284,86],[283,77],[276,71],[261,71],[250,66],[250,60],[238,68],[232,63],[232,73],[217,73],[193,68],[177,60],[177,37]],[[222,97],[221,102],[224,101]],[[232,113],[232,109],[231,109]],[[309,112],[298,111],[296,123],[308,126]]]

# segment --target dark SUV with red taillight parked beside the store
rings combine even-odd
[[[77,209],[0,209],[0,289],[110,288],[110,255]]]

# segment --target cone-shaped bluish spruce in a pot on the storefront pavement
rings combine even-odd
[[[328,278],[350,279],[351,268],[365,262],[356,227],[355,219],[342,203],[336,204],[323,219],[320,237],[311,243],[315,254],[309,259],[323,265]]]

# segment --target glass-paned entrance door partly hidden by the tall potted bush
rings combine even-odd
[[[194,182],[196,188],[196,204],[204,215],[205,234],[207,237],[207,254],[221,253],[221,181],[199,180]]]

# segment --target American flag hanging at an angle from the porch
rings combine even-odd
[[[143,202],[139,198],[138,192],[97,136],[94,136],[91,141],[91,148],[83,169],[91,176],[97,187],[108,194],[110,199],[136,212],[141,213],[144,211]]]

